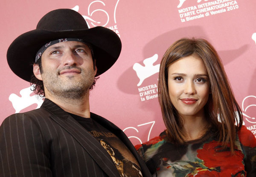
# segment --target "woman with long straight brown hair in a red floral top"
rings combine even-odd
[[[171,45],[158,90],[166,130],[136,146],[154,177],[256,177],[256,139],[209,42]]]

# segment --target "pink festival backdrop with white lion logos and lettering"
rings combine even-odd
[[[0,124],[11,114],[42,104],[29,82],[9,69],[6,51],[17,36],[35,29],[44,14],[57,8],[78,11],[90,28],[104,26],[120,37],[121,55],[90,91],[90,110],[119,126],[134,145],[165,129],[157,98],[160,61],[182,37],[205,38],[216,48],[243,112],[243,124],[256,136],[255,0],[4,0]]]

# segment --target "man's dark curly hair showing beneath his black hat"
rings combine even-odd
[[[35,65],[39,66],[39,70],[42,73],[42,60],[41,60],[41,57],[35,62]],[[95,69],[95,59],[93,59],[93,69]],[[95,86],[97,79],[99,79],[99,76],[94,77],[94,81],[93,81],[93,84],[90,86],[90,90],[92,90],[93,87]],[[45,96],[45,93],[44,93],[44,83],[43,83],[43,81],[37,79],[34,74],[32,74],[32,76],[31,76],[30,85],[32,87],[31,90],[34,91],[35,94],[37,94],[40,97],[44,97]]]

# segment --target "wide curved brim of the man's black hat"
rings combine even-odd
[[[9,67],[21,79],[30,82],[37,51],[47,42],[62,38],[79,38],[93,45],[97,67],[96,76],[107,71],[116,62],[122,48],[117,34],[101,26],[67,31],[35,29],[20,35],[9,46],[7,51]]]

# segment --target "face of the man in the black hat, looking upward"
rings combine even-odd
[[[46,98],[49,94],[58,98],[81,98],[88,92],[97,72],[90,48],[83,42],[51,45],[41,59],[41,73],[35,75],[44,83]]]

